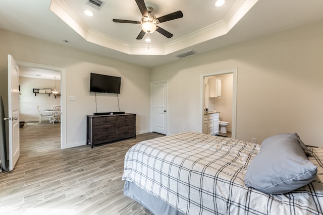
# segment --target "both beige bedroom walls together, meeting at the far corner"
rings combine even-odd
[[[168,80],[168,131],[202,130],[201,74],[237,68],[236,137],[244,140],[297,132],[323,146],[323,23],[201,54],[150,69],[0,30],[0,92],[7,102],[7,54],[65,67],[67,145],[85,144],[85,115],[95,112],[89,73],[122,77],[120,106],[137,113],[137,130],[150,129],[150,81]],[[140,102],[138,102],[140,101]],[[98,112],[117,111],[114,95],[97,97]],[[6,110],[7,113],[7,110]]]

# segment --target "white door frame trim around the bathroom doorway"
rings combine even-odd
[[[238,76],[238,68],[231,68],[226,70],[218,70],[212,73],[201,74],[200,76],[200,129],[201,133],[203,132],[203,88],[204,88],[204,78],[208,76],[217,76],[217,75],[225,75],[225,74],[233,74],[233,83],[232,83],[232,126],[231,126],[231,137],[236,138],[236,126],[237,126],[237,76]]]

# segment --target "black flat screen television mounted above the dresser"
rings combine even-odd
[[[90,92],[120,94],[121,77],[91,73]]]

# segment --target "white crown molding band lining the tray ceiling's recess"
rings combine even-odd
[[[129,44],[90,29],[73,13],[72,9],[63,0],[52,0],[49,10],[88,42],[126,54],[167,55],[227,34],[257,2],[258,0],[238,1],[223,20],[164,45],[150,45],[147,43],[142,45]]]

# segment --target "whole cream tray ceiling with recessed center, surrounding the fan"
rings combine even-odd
[[[154,32],[147,43],[145,37],[136,40],[140,25],[112,21],[141,21],[135,0],[104,0],[99,10],[86,2],[0,1],[0,28],[154,67],[179,60],[177,56],[187,51],[201,54],[323,20],[321,0],[226,0],[219,8],[215,0],[147,0],[156,17],[183,12],[183,18],[159,24],[174,34],[172,38]],[[84,10],[91,10],[93,16],[86,16]]]

